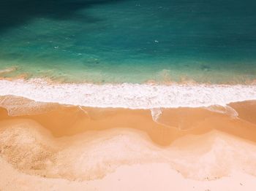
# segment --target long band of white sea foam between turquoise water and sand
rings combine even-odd
[[[78,106],[153,109],[256,100],[256,85],[52,84],[43,79],[18,79],[0,80],[0,95]]]

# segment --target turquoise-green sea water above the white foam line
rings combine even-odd
[[[1,0],[0,74],[64,82],[256,78],[256,1]]]

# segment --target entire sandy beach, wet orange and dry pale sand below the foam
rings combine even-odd
[[[0,190],[256,187],[255,101],[162,109],[157,121],[148,109],[0,103]]]

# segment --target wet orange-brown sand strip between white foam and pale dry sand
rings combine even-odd
[[[0,103],[5,107],[0,109],[0,120],[34,120],[56,137],[74,136],[89,130],[132,128],[146,133],[154,144],[169,146],[187,134],[200,135],[219,130],[256,142],[256,101],[230,104],[238,116],[223,106],[161,109],[157,122],[152,119],[149,109],[67,106],[38,103],[15,96],[1,96]]]

